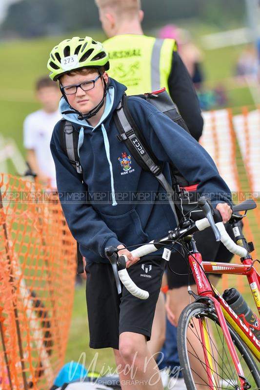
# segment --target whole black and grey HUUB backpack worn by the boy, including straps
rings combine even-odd
[[[153,104],[159,111],[170,117],[175,123],[177,123],[187,133],[190,134],[185,121],[180,116],[174,102],[168,95],[165,88],[161,88],[159,91],[134,96],[143,98],[149,103]],[[143,134],[141,133],[128,109],[127,100],[128,97],[123,95],[117,109],[113,113],[113,119],[119,132],[117,135],[118,141],[125,142],[127,148],[130,150],[131,154],[134,156],[135,160],[142,167],[142,169],[151,172],[160,182],[167,193],[168,201],[178,224],[179,217],[176,213],[174,204],[174,200],[176,200],[176,194],[179,196],[180,188],[186,187],[192,188],[194,192],[196,190],[197,184],[187,182],[187,180],[180,174],[180,172],[172,163],[170,164],[172,185],[167,182],[166,178],[162,174],[162,167],[160,166],[156,156],[147,146],[147,142],[145,141]],[[70,163],[77,170],[78,174],[81,175],[82,179],[82,169],[80,166],[80,157],[78,154],[79,133],[74,131],[73,125],[64,119],[60,122],[59,130],[61,148],[63,152],[69,157]],[[179,216],[183,216],[184,212],[182,202],[178,203],[180,203],[181,207],[181,210],[179,210]],[[78,273],[83,272],[83,267],[82,271],[80,272],[80,256],[81,255],[78,246]]]

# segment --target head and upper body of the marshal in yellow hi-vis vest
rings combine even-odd
[[[110,74],[127,86],[127,95],[165,87],[191,135],[198,141],[203,127],[200,104],[174,39],[143,35],[140,0],[95,0],[108,39]]]

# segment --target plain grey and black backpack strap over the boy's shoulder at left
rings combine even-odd
[[[82,168],[78,154],[79,133],[68,120],[61,120],[60,124],[60,145],[63,152],[68,156],[71,165],[76,169],[82,180]],[[80,253],[80,244],[77,242],[77,273],[83,273],[83,258]]]

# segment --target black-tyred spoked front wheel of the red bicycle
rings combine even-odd
[[[260,389],[260,367],[228,324],[231,338],[251,390]],[[180,368],[188,390],[240,390],[240,380],[217,315],[202,303],[191,303],[178,324]]]

